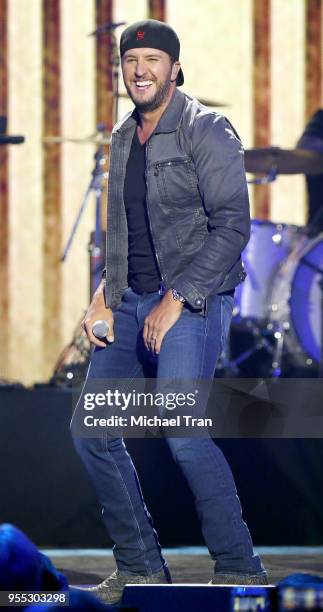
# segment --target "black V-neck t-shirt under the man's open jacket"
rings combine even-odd
[[[145,155],[135,131],[124,183],[128,221],[128,285],[136,293],[159,289],[160,275],[151,239],[146,208]]]

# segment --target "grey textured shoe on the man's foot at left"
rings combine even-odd
[[[167,584],[168,582],[170,581],[167,580],[163,569],[149,576],[131,574],[130,572],[122,572],[117,569],[111,576],[108,576],[108,578],[97,586],[77,588],[92,593],[92,595],[96,595],[101,601],[104,601],[104,603],[118,604],[120,603],[122,592],[126,584]]]

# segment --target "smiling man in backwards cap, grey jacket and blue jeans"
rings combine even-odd
[[[160,21],[140,21],[121,36],[135,109],[112,133],[106,272],[83,321],[96,345],[87,379],[140,378],[152,360],[157,381],[213,379],[234,287],[245,277],[242,145],[223,116],[177,89],[179,51],[176,33]],[[107,342],[92,333],[98,319],[109,324]],[[115,544],[116,571],[90,590],[115,603],[126,583],[171,582],[123,439],[74,443]],[[195,498],[215,561],[212,584],[267,584],[221,450],[205,437],[167,443]]]

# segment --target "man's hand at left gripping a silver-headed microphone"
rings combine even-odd
[[[102,279],[81,323],[89,341],[102,348],[107,346],[107,342],[114,342],[113,312],[105,306],[104,285]]]

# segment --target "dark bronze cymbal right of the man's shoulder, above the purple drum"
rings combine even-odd
[[[323,174],[323,153],[309,149],[265,147],[245,151],[246,172],[253,174]]]

